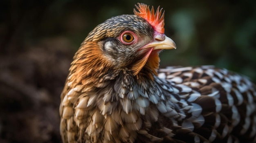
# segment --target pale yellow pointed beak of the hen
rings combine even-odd
[[[176,49],[176,44],[171,38],[164,35],[164,37],[161,37],[161,39],[155,38],[153,42],[150,42],[143,47],[143,49],[145,48],[153,48],[153,50],[168,50],[173,48]]]

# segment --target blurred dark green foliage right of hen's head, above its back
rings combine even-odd
[[[177,49],[163,52],[162,64],[211,64],[256,81],[255,1],[179,1],[175,4],[177,7],[171,11],[166,5],[164,8],[166,34],[171,35]]]

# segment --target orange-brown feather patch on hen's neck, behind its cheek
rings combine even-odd
[[[99,85],[105,78],[109,78],[106,74],[113,67],[96,42],[87,42],[76,52],[70,75],[77,84]]]

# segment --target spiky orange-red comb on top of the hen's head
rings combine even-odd
[[[135,7],[138,9],[138,11],[133,9],[135,15],[138,15],[148,21],[157,32],[164,33],[164,12],[161,15],[163,8],[159,11],[159,7],[157,7],[155,12],[153,6],[150,10],[149,6],[143,3],[138,3]]]

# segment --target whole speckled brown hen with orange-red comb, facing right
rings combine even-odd
[[[158,69],[176,48],[164,11],[99,24],[74,55],[61,94],[63,143],[249,143],[256,141],[256,86],[214,66]]]

